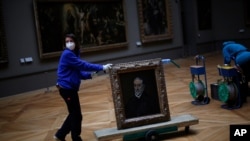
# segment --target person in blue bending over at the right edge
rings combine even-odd
[[[250,95],[248,82],[250,81],[250,51],[247,47],[234,41],[226,41],[223,43],[222,54],[224,64],[234,65],[240,73],[240,93],[242,102],[246,102],[246,96]]]

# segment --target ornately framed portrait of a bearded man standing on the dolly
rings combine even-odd
[[[115,64],[109,75],[118,129],[170,120],[160,58]]]

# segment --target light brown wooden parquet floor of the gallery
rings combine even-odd
[[[221,78],[217,65],[222,63],[222,57],[220,52],[205,54],[204,57],[211,98],[210,84]],[[164,65],[171,116],[192,114],[199,118],[199,124],[190,126],[189,134],[184,134],[180,128],[177,133],[164,135],[164,140],[229,141],[230,124],[250,124],[249,97],[243,107],[234,110],[221,108],[223,103],[212,98],[207,105],[191,104],[190,65],[195,65],[195,60],[187,57],[175,62],[180,68],[173,64]],[[1,141],[53,141],[53,135],[67,116],[67,109],[56,87],[46,90],[0,98]],[[79,95],[83,114],[81,136],[85,141],[96,141],[93,131],[116,127],[109,75],[83,81]],[[70,135],[66,140],[71,140]]]

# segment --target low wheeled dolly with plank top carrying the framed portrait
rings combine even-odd
[[[171,117],[170,121],[156,124],[144,125],[128,129],[106,128],[94,131],[98,141],[110,141],[123,139],[123,141],[133,141],[144,139],[145,141],[159,141],[161,134],[178,132],[178,128],[184,127],[185,132],[189,132],[190,125],[198,124],[199,119],[190,115],[180,115]]]

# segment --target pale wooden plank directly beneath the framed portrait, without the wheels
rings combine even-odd
[[[128,128],[128,129],[121,129],[121,130],[118,130],[117,128],[106,128],[106,129],[96,130],[94,131],[94,134],[98,140],[110,140],[110,139],[114,139],[118,137],[120,138],[126,134],[144,132],[150,129],[166,128],[166,127],[173,127],[173,126],[187,127],[187,126],[198,124],[198,123],[199,123],[198,118],[190,114],[186,114],[186,115],[171,117],[171,120],[167,122],[161,122],[161,123],[139,126],[139,127],[134,127],[134,128]]]

